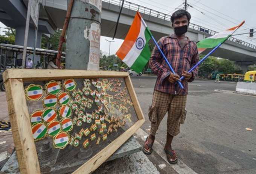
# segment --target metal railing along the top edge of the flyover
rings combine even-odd
[[[117,5],[119,7],[121,7],[121,5],[122,5],[122,0],[102,0],[102,1],[103,2],[108,2],[110,4]],[[123,8],[127,8],[127,9],[133,10],[133,11],[139,11],[140,13],[142,13],[142,15],[146,14],[146,15],[149,15],[149,16],[152,16],[152,17],[157,17],[157,18],[160,18],[160,19],[163,19],[163,20],[166,20],[166,21],[171,21],[171,15],[169,15],[169,14],[164,14],[162,12],[158,12],[156,10],[149,9],[149,8],[144,7],[144,6],[140,6],[140,5],[137,5],[135,3],[128,2],[128,1],[124,1]],[[199,25],[193,24],[193,23],[189,23],[189,28],[201,31],[201,32],[206,33],[206,34],[209,34],[210,36],[215,35],[216,33],[218,33],[214,30],[211,30],[211,29],[208,29],[208,28],[205,28],[203,26],[199,26]],[[248,42],[242,41],[241,39],[236,39],[234,37],[230,37],[229,40],[232,41],[232,42],[236,42],[238,44],[244,45],[246,47],[256,49],[256,45],[253,45],[253,44],[250,44]]]

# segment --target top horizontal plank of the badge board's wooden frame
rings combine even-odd
[[[8,79],[23,79],[25,81],[59,80],[66,78],[105,78],[127,77],[126,72],[116,71],[86,71],[86,70],[35,70],[8,69],[3,73],[4,82]]]

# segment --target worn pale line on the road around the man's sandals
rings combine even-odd
[[[143,139],[144,141],[146,140],[146,137],[148,136],[148,133],[146,133],[144,130],[142,129],[138,129],[136,132],[137,137]],[[168,160],[166,159],[166,153],[163,150],[163,146],[155,141],[154,142],[154,151],[161,156],[168,164]],[[179,174],[197,174],[194,170],[192,170],[191,168],[189,168],[189,166],[187,166],[184,162],[182,162],[180,159],[178,159],[178,163],[175,165],[171,165],[169,164],[176,172],[178,172]]]

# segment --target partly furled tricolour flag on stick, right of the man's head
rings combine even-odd
[[[239,27],[244,24],[245,21],[242,21],[238,26],[227,29],[223,32],[217,33],[216,35],[210,36],[209,38],[203,39],[197,43],[197,48],[199,54],[202,53],[207,48],[216,47],[218,44],[225,42]]]

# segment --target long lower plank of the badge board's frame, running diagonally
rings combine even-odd
[[[94,157],[88,160],[84,165],[79,167],[72,174],[88,174],[96,170],[103,162],[105,162],[108,157],[111,156],[127,139],[129,139],[139,128],[145,120],[138,120],[133,126],[126,130],[122,135],[117,137],[113,142],[111,142],[107,147],[102,149]]]

